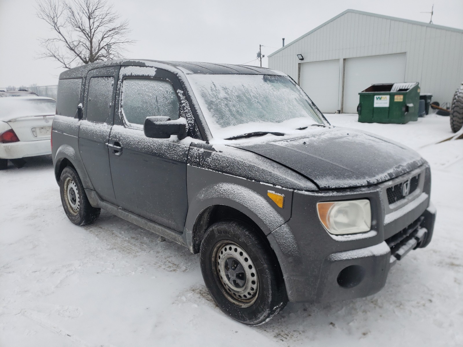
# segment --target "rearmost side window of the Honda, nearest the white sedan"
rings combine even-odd
[[[58,81],[56,114],[74,117],[81,98],[81,78]]]

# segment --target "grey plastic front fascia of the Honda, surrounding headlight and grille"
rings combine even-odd
[[[397,180],[407,180],[416,171]],[[267,236],[290,301],[316,303],[372,295],[386,283],[391,266],[410,250],[429,244],[436,218],[429,198],[431,170],[425,164],[418,171],[419,188],[399,205],[388,204],[384,197],[395,179],[342,191],[294,191],[291,218]],[[319,201],[364,198],[371,204],[369,232],[332,235],[323,228],[316,213]]]

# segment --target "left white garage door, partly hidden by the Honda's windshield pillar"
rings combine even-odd
[[[336,112],[339,101],[339,60],[300,64],[300,87],[321,112]]]

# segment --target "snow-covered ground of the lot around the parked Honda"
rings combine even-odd
[[[367,130],[431,163],[438,219],[371,297],[288,304],[247,327],[213,303],[199,257],[106,212],[77,227],[65,216],[49,156],[0,172],[0,346],[462,346],[463,140],[435,115]]]

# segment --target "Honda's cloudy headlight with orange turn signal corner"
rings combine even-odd
[[[317,211],[320,222],[331,234],[356,234],[371,229],[368,199],[319,202]]]

